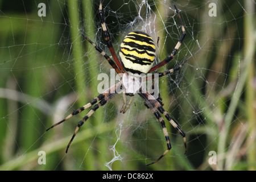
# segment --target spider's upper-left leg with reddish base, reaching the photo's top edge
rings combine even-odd
[[[115,64],[117,65],[117,67],[120,69],[120,71],[122,73],[125,72],[125,70],[123,69],[121,63],[119,62],[117,55],[115,53],[115,50],[113,48],[112,42],[109,38],[109,34],[108,34],[108,30],[106,28],[106,23],[105,23],[105,16],[104,16],[104,12],[102,10],[102,0],[100,1],[100,8],[99,8],[99,13],[100,13],[100,19],[101,19],[101,26],[102,26],[102,30],[104,31],[104,36],[105,36],[105,40],[106,40],[106,44],[109,48],[109,51],[111,53],[111,55],[113,56],[113,59],[115,61]]]

